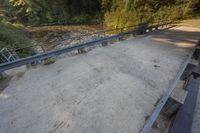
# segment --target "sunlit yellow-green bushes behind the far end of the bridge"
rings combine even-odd
[[[181,20],[194,15],[198,0],[102,0],[105,25],[124,27],[144,21]],[[197,6],[196,6],[197,7]]]

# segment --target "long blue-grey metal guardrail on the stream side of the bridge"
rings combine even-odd
[[[159,24],[159,25],[154,25],[154,26],[151,26],[151,27],[145,27],[145,29],[142,29],[142,30],[149,30],[149,29],[152,29],[152,28],[157,29],[158,27],[161,27],[161,26],[164,26],[164,25],[170,25],[170,24],[171,24],[171,22]],[[40,53],[40,54],[37,54],[37,55],[21,58],[21,59],[15,60],[13,62],[3,63],[3,64],[0,64],[0,73],[3,72],[3,71],[9,70],[9,69],[15,68],[15,67],[30,64],[30,63],[35,62],[35,61],[44,60],[44,59],[49,58],[49,57],[54,57],[54,56],[58,56],[58,55],[61,55],[61,54],[64,54],[64,53],[74,51],[74,50],[79,50],[79,49],[82,49],[82,48],[85,48],[85,47],[95,46],[95,45],[101,44],[101,43],[106,43],[106,42],[109,42],[113,39],[121,38],[125,35],[137,34],[138,32],[141,32],[140,30],[141,30],[140,28],[137,28],[137,29],[130,30],[130,31],[127,31],[127,32],[124,32],[124,33],[119,33],[117,35],[104,37],[104,38],[97,39],[97,40],[91,41],[91,42],[86,42],[86,43],[83,43],[83,44],[80,44],[80,45],[77,45],[77,46],[52,50],[52,51],[48,51],[48,52],[45,52],[45,53]]]

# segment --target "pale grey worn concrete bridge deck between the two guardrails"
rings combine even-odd
[[[2,133],[136,133],[200,38],[178,26],[8,71]]]

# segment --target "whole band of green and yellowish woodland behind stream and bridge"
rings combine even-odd
[[[0,48],[30,43],[26,27],[101,24],[107,28],[177,21],[200,14],[200,0],[0,0]]]

